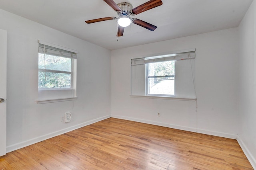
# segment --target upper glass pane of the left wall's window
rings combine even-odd
[[[53,55],[45,55],[46,70],[58,70],[71,72],[72,59]],[[44,54],[38,54],[38,68],[44,69]]]

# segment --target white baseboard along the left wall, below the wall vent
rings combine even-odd
[[[36,137],[34,139],[29,139],[27,141],[23,141],[23,142],[20,142],[20,143],[16,143],[14,145],[10,145],[10,146],[7,146],[6,147],[6,152],[12,152],[14,150],[17,150],[17,149],[21,149],[23,147],[27,147],[29,145],[32,145],[32,144],[35,144],[35,143],[38,143],[38,142],[41,142],[41,141],[44,141],[46,139],[50,139],[52,137],[56,137],[58,135],[62,135],[64,133],[67,133],[67,132],[70,132],[70,131],[73,131],[75,129],[78,129],[78,128],[81,128],[81,127],[84,127],[84,126],[87,126],[87,125],[90,125],[92,123],[96,123],[98,121],[102,121],[104,119],[108,119],[110,118],[110,115],[107,115],[107,116],[103,116],[103,117],[100,117],[100,118],[97,118],[97,119],[93,119],[93,120],[90,120],[90,121],[86,121],[84,123],[80,123],[78,125],[75,125],[75,126],[72,126],[72,127],[68,127],[66,129],[62,129],[60,131],[55,131],[53,133],[49,133],[49,134],[46,134],[46,135],[42,135],[40,137]]]

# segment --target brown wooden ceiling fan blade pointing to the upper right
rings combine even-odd
[[[157,6],[160,6],[162,4],[163,4],[162,0],[150,0],[144,4],[141,4],[140,6],[137,6],[136,8],[133,8],[132,14],[137,15],[142,12],[145,12],[146,10],[156,8]]]

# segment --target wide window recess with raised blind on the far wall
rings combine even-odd
[[[196,99],[195,49],[131,59],[131,96]]]

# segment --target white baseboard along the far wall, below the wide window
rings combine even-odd
[[[141,123],[148,123],[148,124],[158,125],[158,126],[163,126],[163,127],[170,127],[170,128],[180,129],[180,130],[184,130],[184,131],[203,133],[203,134],[206,134],[206,135],[226,137],[226,138],[230,138],[230,139],[236,139],[237,138],[237,135],[233,135],[233,134],[221,133],[221,132],[215,132],[215,131],[208,131],[208,130],[203,130],[203,129],[196,129],[196,128],[192,128],[192,127],[173,125],[173,124],[162,123],[162,122],[158,122],[158,121],[149,121],[149,120],[145,120],[145,119],[137,119],[137,118],[133,118],[133,117],[126,117],[126,116],[119,116],[119,115],[111,115],[111,117],[118,118],[118,119],[130,120],[130,121],[137,121],[137,122],[141,122]]]

